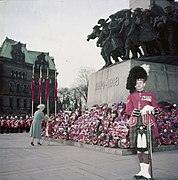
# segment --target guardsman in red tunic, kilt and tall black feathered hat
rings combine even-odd
[[[147,66],[147,70],[148,68],[149,66]],[[134,176],[136,179],[152,179],[152,173],[149,172],[152,164],[150,139],[153,143],[156,142],[154,136],[159,136],[154,118],[158,114],[158,105],[154,94],[144,91],[149,73],[147,70],[141,66],[133,67],[129,72],[126,85],[126,88],[130,90],[126,104],[126,114],[130,116],[130,148],[136,148],[140,163],[140,172]],[[149,124],[150,129],[148,129]],[[150,134],[152,138],[149,138]]]

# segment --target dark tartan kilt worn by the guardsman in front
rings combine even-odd
[[[142,122],[142,117],[137,118],[137,124],[129,128],[129,141],[130,141],[130,148],[137,148],[137,136],[138,136],[138,129],[140,126],[144,126]],[[146,139],[147,139],[147,147],[150,147],[150,139],[148,135],[148,131],[146,132]],[[156,138],[154,135],[154,126],[151,126],[151,140],[152,140],[152,147],[157,147]]]

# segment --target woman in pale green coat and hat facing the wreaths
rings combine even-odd
[[[30,137],[31,137],[31,145],[34,146],[34,138],[37,138],[37,144],[41,145],[40,139],[41,139],[41,123],[42,120],[48,120],[49,117],[44,115],[43,110],[45,109],[44,104],[39,104],[37,106],[38,110],[34,114],[34,119],[30,127]]]

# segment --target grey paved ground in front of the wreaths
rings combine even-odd
[[[153,154],[155,180],[178,180],[178,150]],[[131,180],[136,155],[121,156],[50,142],[30,145],[28,133],[0,134],[0,180]]]

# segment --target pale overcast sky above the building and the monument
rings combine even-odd
[[[6,37],[54,57],[58,88],[72,87],[81,68],[102,68],[96,39],[87,35],[100,18],[129,7],[129,0],[0,0],[0,44]]]

